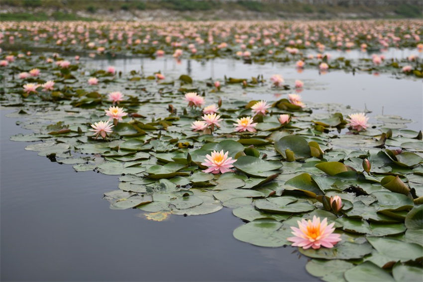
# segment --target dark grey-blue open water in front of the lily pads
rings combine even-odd
[[[9,137],[29,131],[10,112],[0,112],[2,281],[316,281],[294,248],[233,238],[243,223],[229,208],[162,222],[109,209],[116,176],[24,150]]]

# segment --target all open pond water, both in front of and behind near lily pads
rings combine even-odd
[[[282,74],[288,84],[305,82],[304,100],[340,103],[412,119],[422,129],[422,81],[315,69],[298,73],[278,64],[243,64],[216,59],[207,62],[173,59],[91,60],[92,68],[161,70],[168,77],[223,79]],[[224,88],[223,88],[224,91]],[[248,89],[254,99],[276,100]],[[74,172],[25,151],[26,143],[9,141],[29,131],[1,110],[1,280],[2,281],[316,281],[304,267],[307,258],[295,248],[255,247],[232,237],[244,224],[231,209],[204,216],[144,219],[142,212],[110,210],[103,193],[115,190],[116,176]]]

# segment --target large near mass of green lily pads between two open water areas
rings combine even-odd
[[[33,142],[25,149],[78,172],[118,175],[117,189],[105,192],[110,208],[138,209],[157,221],[232,208],[246,223],[233,236],[262,247],[290,245],[291,227],[301,219],[327,218],[342,240],[331,249],[299,249],[313,258],[306,267],[312,275],[324,281],[404,281],[422,274],[423,141],[422,132],[406,129],[410,121],[375,117],[366,131],[348,131],[345,119],[354,110],[296,106],[288,86],[277,90],[280,100],[268,101],[266,115],[254,117],[256,132],[237,133],[233,124],[253,116],[257,103],[239,95],[243,87],[272,91],[262,76],[226,79],[216,91],[211,81],[187,76],[161,82],[135,71],[118,75],[83,64],[63,70],[45,60],[28,57],[1,74],[0,104],[16,108],[10,116],[33,131],[11,140]],[[33,68],[40,70],[38,76],[16,78]],[[89,85],[88,77],[99,84]],[[48,80],[55,82],[51,91],[22,90],[25,83]],[[119,107],[128,115],[106,139],[95,139],[90,125],[105,119],[111,105],[107,93],[113,91],[123,93]],[[191,130],[203,113],[188,107],[188,92],[204,97],[206,105],[219,105],[219,128]],[[290,116],[288,123],[278,121],[282,114]],[[213,150],[236,159],[235,171],[202,172]],[[365,159],[371,167],[363,168]],[[342,199],[336,212],[327,204],[331,196]]]

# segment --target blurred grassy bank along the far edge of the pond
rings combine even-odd
[[[215,14],[212,19],[231,19],[233,13],[242,15],[243,12],[250,15],[248,19],[254,16],[327,19],[340,15],[344,18],[422,18],[422,6],[416,0],[315,0],[312,3],[305,0],[2,0],[2,10],[7,13],[0,14],[1,20],[89,20],[102,15],[127,19],[159,10],[186,20],[203,14]],[[153,17],[161,19],[157,15]],[[239,17],[242,16],[234,19]]]

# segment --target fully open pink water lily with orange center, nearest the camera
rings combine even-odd
[[[302,247],[303,249],[319,249],[321,246],[325,248],[333,248],[333,246],[341,241],[340,234],[333,234],[335,230],[332,222],[327,225],[327,218],[320,222],[320,218],[313,216],[313,221],[302,219],[297,221],[298,227],[291,227],[294,237],[287,238],[288,241],[294,242],[292,246]]]

